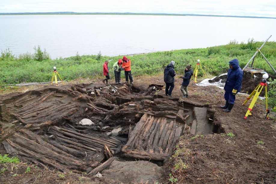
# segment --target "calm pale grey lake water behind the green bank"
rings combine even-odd
[[[2,15],[0,50],[52,59],[206,48],[236,40],[276,41],[276,19],[152,15]]]

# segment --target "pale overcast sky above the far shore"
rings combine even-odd
[[[167,13],[276,18],[275,0],[0,0],[0,13]]]

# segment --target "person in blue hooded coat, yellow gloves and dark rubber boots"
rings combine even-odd
[[[224,85],[224,99],[225,106],[219,106],[223,108],[225,112],[230,112],[233,108],[236,100],[236,95],[241,91],[241,82],[244,77],[244,73],[239,66],[239,60],[233,59],[229,63],[229,70]]]

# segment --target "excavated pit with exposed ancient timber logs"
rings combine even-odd
[[[41,167],[91,175],[119,159],[162,163],[184,134],[223,133],[208,105],[157,94],[162,88],[46,86],[3,98],[1,149]],[[80,125],[82,119],[93,124]]]

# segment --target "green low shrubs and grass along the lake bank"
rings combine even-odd
[[[211,78],[226,73],[229,68],[228,62],[234,58],[240,61],[240,66],[243,68],[256,52],[256,48],[259,48],[262,44],[263,42],[257,42],[253,39],[249,39],[246,44],[243,42],[239,44],[234,40],[227,45],[139,54],[127,56],[127,58],[131,60],[133,77],[162,74],[165,66],[171,60],[176,62],[176,73],[183,76],[186,65],[191,64],[192,68],[195,68],[197,60],[200,59],[204,72],[208,78]],[[49,53],[45,49],[42,51],[40,46],[34,47],[34,50],[34,54],[23,53],[19,56],[14,56],[9,49],[1,51],[0,88],[2,84],[49,82],[52,79],[54,66],[57,67],[57,71],[64,81],[76,78],[103,78],[103,63],[106,59],[113,59],[109,63],[109,70],[111,79],[114,80],[112,65],[122,58],[122,56],[102,56],[100,52],[97,55],[80,56],[77,52],[76,56],[50,59]],[[276,66],[276,42],[268,41],[262,47],[261,52],[272,66]],[[275,75],[260,53],[257,54],[253,67],[264,69],[268,74]],[[199,72],[198,79],[201,75],[201,72]],[[121,77],[124,78],[124,72],[121,72]],[[276,82],[270,82],[270,88],[275,92],[268,92],[268,94],[276,99],[274,95],[276,94]],[[273,101],[270,104],[272,103],[272,107],[276,107],[276,103]]]

